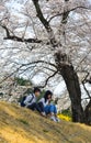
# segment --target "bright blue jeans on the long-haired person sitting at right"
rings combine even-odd
[[[46,112],[46,114],[48,114],[48,113],[57,113],[57,108],[56,108],[56,106],[55,105],[47,105],[45,108],[44,108],[44,110],[45,110],[45,112]]]

